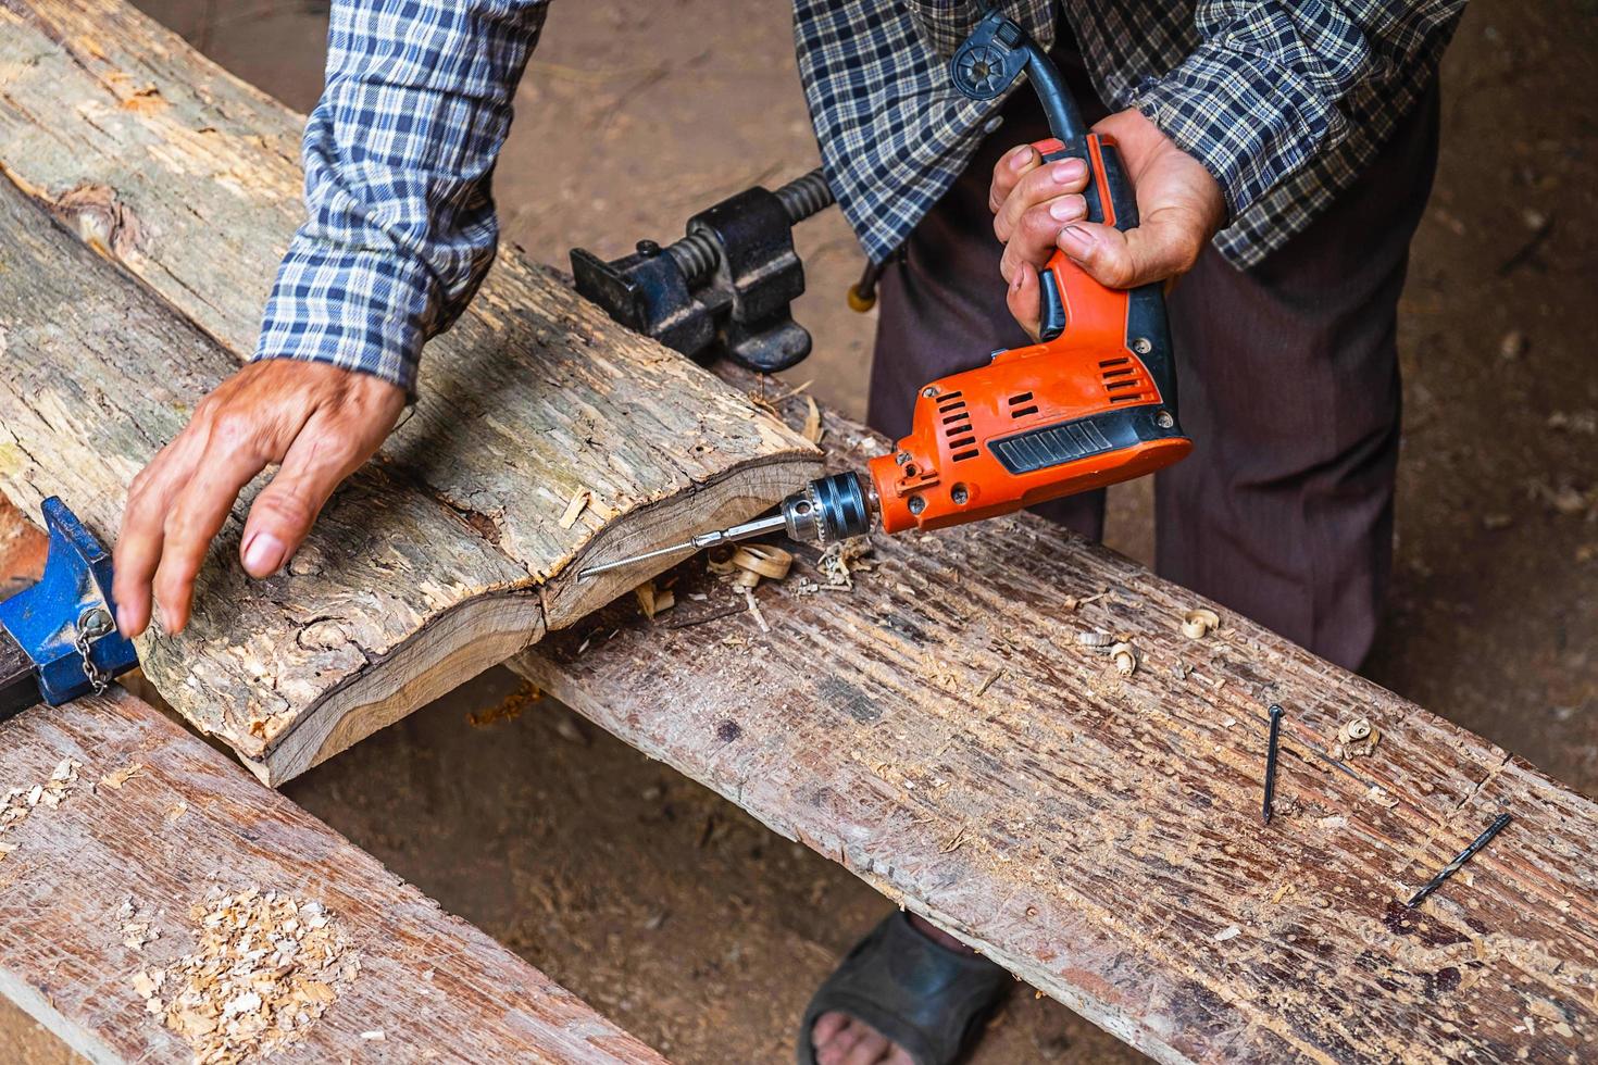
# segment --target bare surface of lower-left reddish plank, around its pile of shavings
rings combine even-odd
[[[192,1060],[133,980],[195,950],[190,907],[249,889],[326,907],[360,966],[272,1060],[663,1060],[126,691],[0,725],[0,792],[69,758],[59,805],[0,833],[0,995],[89,1060]]]

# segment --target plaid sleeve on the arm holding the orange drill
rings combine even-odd
[[[1339,145],[1464,0],[1202,0],[1200,45],[1133,105],[1221,184],[1230,216]],[[1358,93],[1355,93],[1358,89]]]

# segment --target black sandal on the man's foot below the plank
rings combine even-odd
[[[893,910],[817,990],[799,1028],[799,1065],[815,1065],[810,1033],[821,1014],[863,1020],[916,1065],[952,1065],[970,1049],[1013,977],[968,950],[935,944]]]

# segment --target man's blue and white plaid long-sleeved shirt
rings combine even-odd
[[[828,184],[885,259],[949,188],[999,101],[946,57],[988,0],[794,0]],[[1045,46],[1055,0],[1005,0]],[[1095,86],[1202,161],[1219,249],[1264,259],[1354,180],[1437,75],[1464,0],[1066,0]],[[422,345],[470,302],[499,240],[489,182],[547,0],[336,0],[305,128],[308,217],[256,358],[331,362],[415,391]]]

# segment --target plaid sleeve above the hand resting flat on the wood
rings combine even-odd
[[[307,220],[256,359],[307,359],[415,393],[499,241],[489,180],[547,0],[336,0],[305,126]]]

